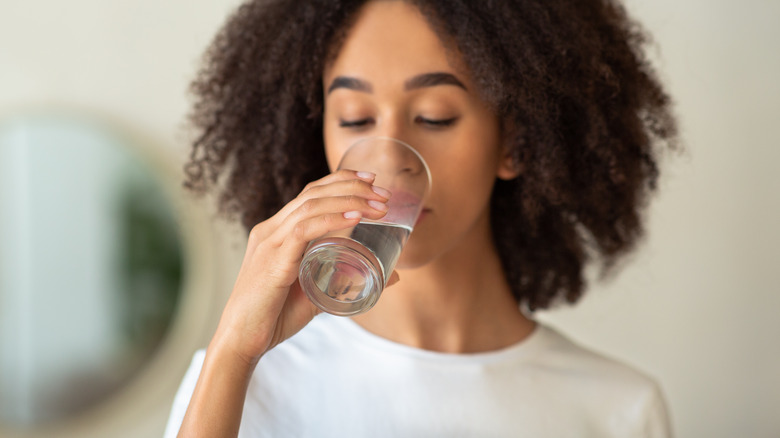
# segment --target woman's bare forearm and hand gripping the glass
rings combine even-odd
[[[319,312],[298,283],[303,252],[328,232],[353,227],[361,218],[383,217],[390,194],[373,182],[373,174],[338,171],[307,185],[252,229],[179,436],[238,434],[247,385],[260,357]]]

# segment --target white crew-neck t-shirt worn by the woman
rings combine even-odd
[[[205,351],[173,403],[175,437]],[[671,436],[658,385],[538,324],[499,351],[446,354],[317,316],[252,376],[240,437]]]

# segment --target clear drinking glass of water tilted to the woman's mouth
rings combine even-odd
[[[392,193],[387,214],[314,240],[299,279],[309,299],[340,316],[368,311],[379,300],[431,187],[428,165],[408,144],[370,137],[347,149],[339,169],[372,172],[374,185]]]

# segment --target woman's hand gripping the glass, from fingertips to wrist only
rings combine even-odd
[[[212,340],[223,353],[254,364],[319,313],[303,293],[298,268],[310,241],[379,219],[389,192],[374,175],[341,170],[307,185],[301,194],[249,234],[233,292]]]

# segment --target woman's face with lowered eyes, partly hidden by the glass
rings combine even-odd
[[[432,190],[398,268],[424,265],[485,227],[495,178],[511,178],[499,121],[457,53],[419,10],[371,1],[323,75],[326,156],[369,136],[394,137],[425,158]],[[359,169],[357,169],[359,170]]]

